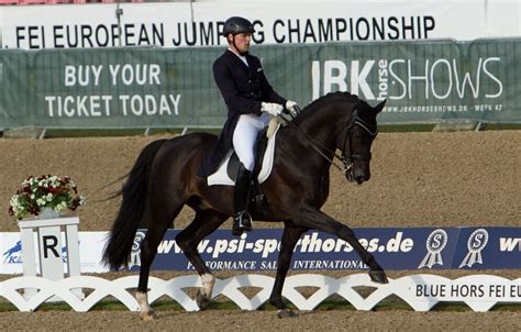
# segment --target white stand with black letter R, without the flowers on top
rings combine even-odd
[[[78,224],[77,217],[53,218],[42,220],[19,221],[22,239],[22,266],[24,276],[36,276],[36,257],[38,258],[40,276],[51,280],[80,275]],[[65,246],[62,244],[62,232],[65,232]],[[36,247],[34,235],[36,234]],[[67,257],[67,273],[64,269],[65,251]],[[74,294],[84,299],[81,288],[74,289]],[[31,298],[36,289],[25,289],[24,295]],[[53,298],[52,300],[57,300]]]

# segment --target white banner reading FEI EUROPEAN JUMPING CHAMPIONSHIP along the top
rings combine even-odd
[[[254,23],[256,44],[518,37],[520,11],[519,0],[3,5],[0,48],[223,45],[232,15]]]

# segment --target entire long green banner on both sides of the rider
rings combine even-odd
[[[212,77],[225,48],[0,52],[0,128],[221,128]],[[521,122],[521,38],[256,46],[270,84],[304,107],[331,91],[372,104],[380,124]]]

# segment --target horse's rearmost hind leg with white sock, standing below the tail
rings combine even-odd
[[[147,321],[156,318],[156,314],[148,305],[148,276],[151,265],[157,254],[157,246],[163,240],[168,225],[179,214],[182,204],[171,204],[170,209],[157,209],[152,213],[152,219],[143,243],[141,244],[141,268],[140,281],[135,298],[140,305],[140,319]]]

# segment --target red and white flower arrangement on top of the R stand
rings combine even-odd
[[[30,176],[11,197],[9,214],[21,220],[26,214],[40,215],[46,208],[63,214],[66,210],[75,211],[82,204],[85,198],[78,195],[78,189],[69,177]]]

